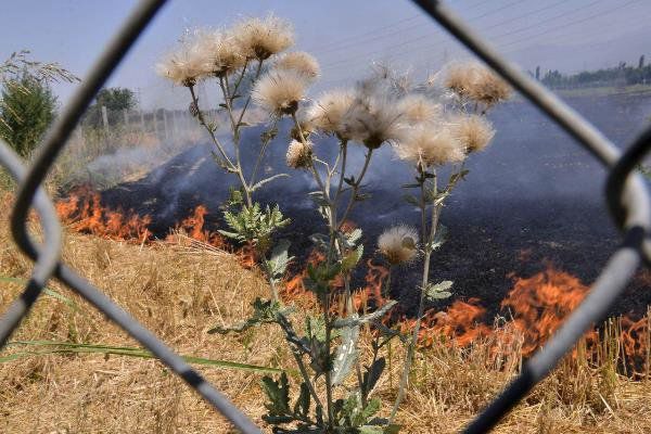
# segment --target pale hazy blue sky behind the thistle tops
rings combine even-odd
[[[576,72],[651,59],[651,0],[449,0],[525,69]],[[0,59],[29,49],[80,77],[127,16],[133,0],[2,0]],[[187,95],[154,74],[156,60],[186,28],[227,26],[268,12],[291,20],[297,49],[320,61],[316,90],[355,81],[373,62],[421,75],[468,56],[407,0],[170,0],[110,86],[137,89],[145,107],[187,106]],[[60,85],[62,101],[74,86]]]

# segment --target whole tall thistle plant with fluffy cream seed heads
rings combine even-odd
[[[413,86],[405,77],[379,68],[355,87],[330,90],[310,101],[307,92],[319,76],[319,65],[308,53],[283,52],[293,40],[289,23],[272,15],[251,18],[228,30],[202,30],[187,37],[180,50],[158,65],[164,76],[188,88],[191,111],[213,140],[215,159],[238,180],[225,214],[230,230],[221,233],[255,245],[271,288],[270,299],[253,303],[251,318],[209,332],[238,333],[263,324],[275,324],[283,332],[301,380],[291,393],[285,374],[263,379],[268,398],[264,419],[273,432],[395,433],[399,426],[394,419],[407,390],[425,302],[451,295],[451,282],[430,281],[431,257],[445,235],[441,213],[468,174],[465,159],[493,138],[485,114],[509,89],[476,65],[450,68],[443,89],[431,80]],[[220,89],[219,106],[228,119],[232,149],[220,142],[216,120],[208,118],[196,97],[197,84],[208,79],[216,80]],[[260,136],[252,169],[244,170],[240,139],[242,129],[250,126],[245,114],[252,103],[267,113],[269,128]],[[254,200],[260,187],[286,176],[257,180],[281,122],[292,126],[286,137],[286,165],[311,179],[309,196],[324,228],[310,237],[323,259],[308,265],[304,279],[305,288],[316,295],[319,311],[306,315],[303,330],[292,323],[294,308],[283,303],[278,291],[293,257],[290,243],[276,241],[273,234],[290,221],[278,206],[263,207]],[[386,146],[413,170],[414,181],[404,187],[414,193],[405,199],[420,210],[420,222],[418,228],[398,225],[380,237],[378,251],[390,271],[383,299],[374,310],[359,312],[352,286],[365,255],[363,233],[360,228],[350,230],[346,222],[356,207],[367,206],[365,202],[371,200],[365,181],[378,150]],[[363,153],[361,162],[353,157],[359,151]],[[439,180],[442,166],[451,167],[445,182]],[[381,320],[396,305],[391,299],[392,272],[420,260],[420,303],[413,333],[406,336]],[[342,309],[336,311],[333,307],[340,301]],[[362,327],[376,332],[370,360],[359,349]],[[396,337],[406,345],[406,361],[393,410],[383,419],[376,417],[381,401],[373,393],[386,366],[382,350]]]

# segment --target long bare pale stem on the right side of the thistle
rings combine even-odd
[[[422,175],[422,174],[421,174]],[[432,243],[434,242],[434,235],[436,234],[436,228],[438,226],[438,215],[439,215],[439,210],[441,210],[441,204],[435,205],[432,207],[432,222],[431,222],[431,227],[430,230],[427,231],[427,227],[426,227],[426,212],[427,212],[427,204],[425,202],[425,189],[424,189],[424,184],[425,184],[425,178],[424,177],[420,177],[419,178],[419,183],[420,183],[420,190],[421,190],[421,201],[420,201],[420,208],[421,208],[421,232],[422,232],[422,240],[424,243],[424,250],[425,250],[425,257],[424,257],[424,263],[423,263],[423,279],[421,281],[421,288],[420,288],[420,301],[419,301],[419,305],[418,305],[418,314],[416,317],[416,326],[413,327],[413,333],[411,335],[411,341],[409,342],[408,346],[407,346],[407,359],[405,360],[405,367],[403,369],[403,375],[400,378],[400,384],[398,386],[398,395],[396,396],[396,401],[394,403],[394,407],[391,411],[391,416],[388,418],[388,423],[393,423],[396,413],[398,412],[398,408],[400,407],[400,403],[403,401],[403,398],[405,396],[405,391],[407,388],[407,383],[409,382],[409,373],[411,371],[411,362],[413,361],[413,356],[416,353],[416,347],[418,345],[418,335],[420,332],[420,326],[421,326],[421,321],[423,318],[423,314],[424,314],[424,309],[425,309],[425,295],[426,295],[426,288],[427,288],[427,282],[430,279],[430,258],[432,256]],[[436,174],[434,174],[434,178],[433,178],[433,186],[432,186],[432,196],[436,196],[437,193],[437,184],[436,184]]]

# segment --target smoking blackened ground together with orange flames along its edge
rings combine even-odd
[[[572,102],[616,141],[629,140],[651,106],[648,99],[630,95]],[[524,103],[508,104],[493,117],[499,130],[496,143],[471,164],[468,181],[455,192],[444,216],[451,241],[436,252],[432,272],[436,279],[455,282],[454,296],[429,306],[422,342],[427,345],[445,336],[468,345],[490,336],[500,323],[522,333],[522,352],[527,356],[580,303],[618,235],[602,200],[604,174],[587,153]],[[258,135],[255,128],[245,130],[244,140]],[[271,143],[267,170],[284,169],[283,151],[282,140]],[[141,180],[102,192],[89,187],[66,192],[58,203],[60,216],[75,231],[136,244],[170,241],[174,233],[183,233],[235,253],[251,267],[252,248],[233,246],[217,233],[224,227],[228,180],[215,170],[208,153],[199,145]],[[379,175],[368,186],[372,212],[367,207],[350,217],[352,228],[356,221],[365,227],[365,244],[371,246],[366,271],[354,278],[360,309],[384,302],[386,265],[373,253],[373,240],[384,227],[416,218],[399,205],[395,186],[383,184],[386,177],[396,178],[394,183],[408,181],[400,163],[390,155],[375,163],[381,166]],[[301,187],[305,183],[301,177],[293,175],[297,179],[279,183],[263,200],[279,203],[293,220],[291,230],[281,233],[292,241],[296,256],[283,290],[290,302],[309,298],[302,285],[305,265],[319,260],[306,241],[315,231],[315,210],[304,199],[309,186]],[[408,328],[418,303],[410,290],[418,284],[417,277],[409,268],[394,277],[404,290],[391,294],[400,303],[387,320],[404,321]],[[648,284],[648,275],[641,272],[612,310],[613,317],[623,318],[623,334],[637,336],[647,327]],[[643,342],[630,344],[627,357],[639,359],[647,347]]]

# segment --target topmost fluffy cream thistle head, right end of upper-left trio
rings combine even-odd
[[[244,55],[259,61],[269,59],[294,43],[292,24],[273,14],[265,18],[244,20],[234,26],[232,33]]]

